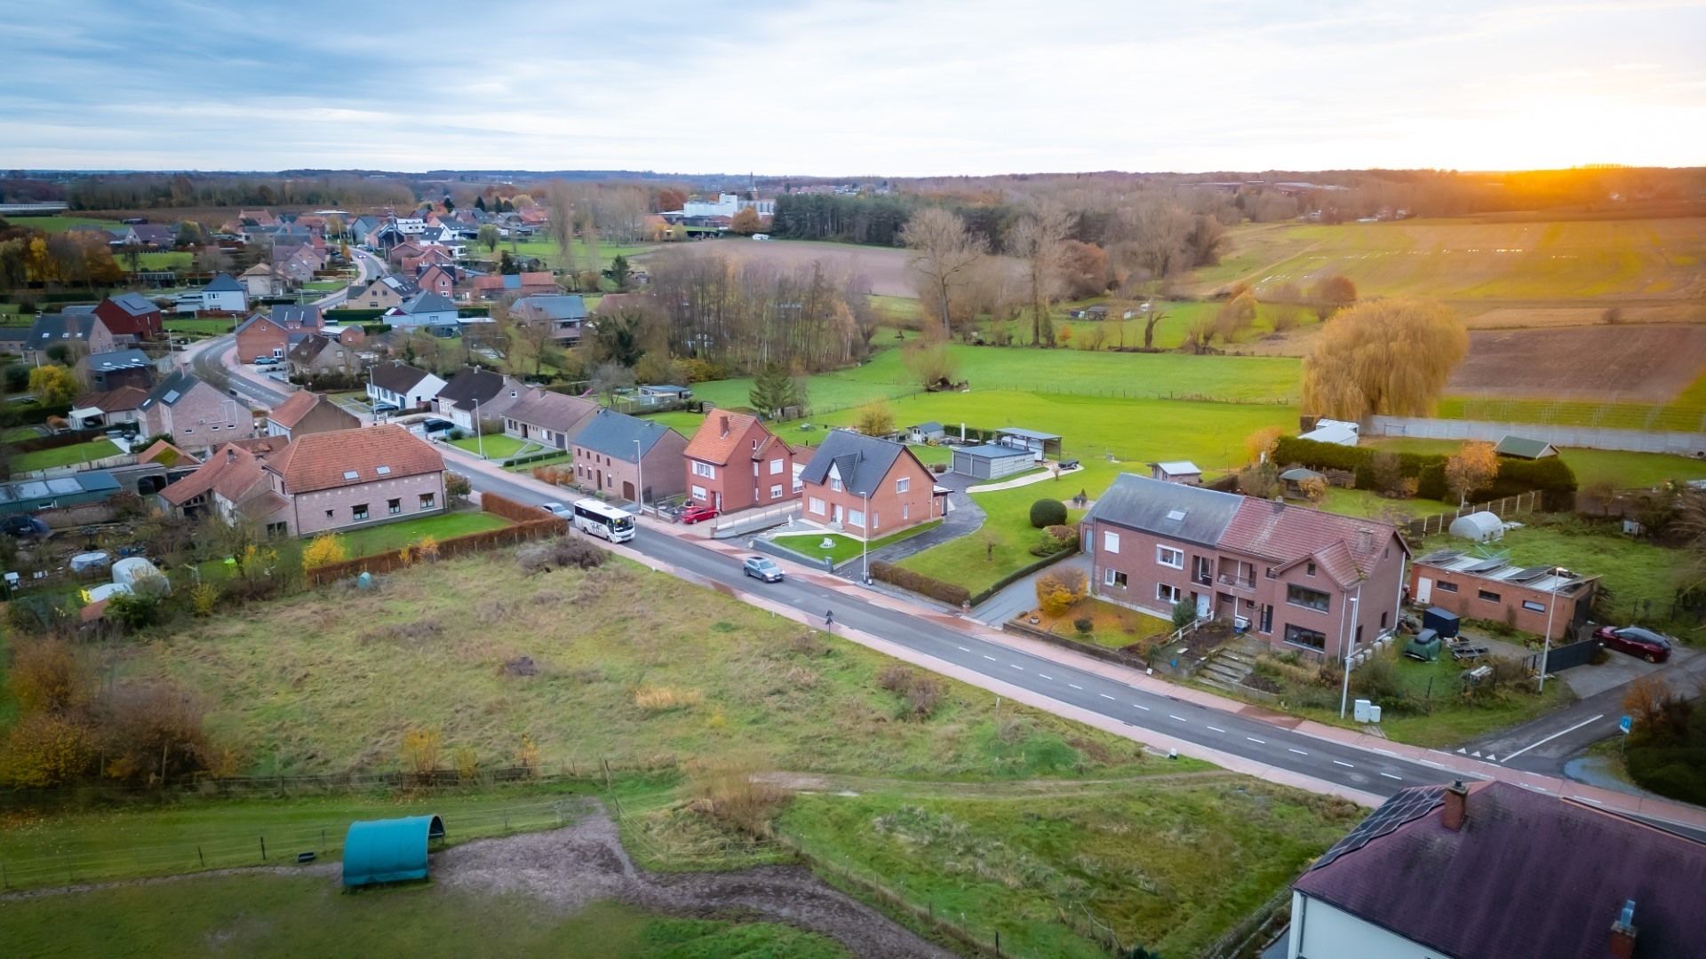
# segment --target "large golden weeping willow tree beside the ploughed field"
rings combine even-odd
[[[1303,358],[1303,410],[1334,420],[1425,416],[1469,353],[1469,333],[1430,300],[1372,300],[1334,316]]]

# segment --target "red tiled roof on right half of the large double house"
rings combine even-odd
[[[1396,534],[1394,527],[1372,519],[1245,498],[1220,534],[1220,546],[1261,556],[1278,568],[1312,558],[1339,585],[1351,585],[1373,568]]]

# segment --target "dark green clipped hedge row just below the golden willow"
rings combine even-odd
[[[1349,469],[1356,474],[1358,490],[1375,488],[1373,459],[1380,450],[1355,445],[1322,444],[1302,437],[1281,437],[1274,447],[1276,464],[1302,462],[1310,469]],[[1399,473],[1416,480],[1416,495],[1425,500],[1448,500],[1445,486],[1443,454],[1401,452]],[[1576,474],[1563,459],[1512,459],[1500,457],[1498,478],[1484,490],[1469,493],[1471,500],[1484,502],[1515,497],[1539,490],[1546,509],[1568,510],[1575,503]]]

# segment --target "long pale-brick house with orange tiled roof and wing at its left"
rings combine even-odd
[[[396,425],[309,433],[276,452],[227,444],[160,498],[184,515],[213,509],[271,536],[314,536],[442,512],[444,457]]]

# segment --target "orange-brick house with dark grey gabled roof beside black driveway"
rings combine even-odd
[[[949,491],[937,488],[935,474],[906,444],[851,430],[824,435],[800,471],[800,519],[860,539],[947,515]]]

